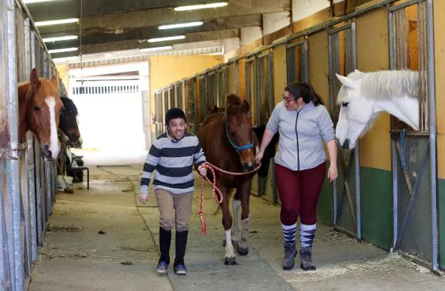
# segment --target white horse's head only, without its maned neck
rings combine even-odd
[[[343,149],[353,149],[357,139],[371,127],[378,110],[374,102],[365,98],[361,92],[364,73],[355,70],[347,77],[336,75],[342,83],[337,97],[337,104],[340,105],[335,129],[337,143]]]

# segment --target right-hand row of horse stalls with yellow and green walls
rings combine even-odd
[[[436,110],[435,70],[442,70],[434,67],[433,42],[434,25],[439,29],[436,21],[441,20],[433,23],[433,2],[436,14],[443,11],[444,4],[432,0],[360,6],[195,75],[193,97],[200,123],[209,110],[224,106],[227,88],[250,102],[252,123],[261,126],[282,100],[287,83],[309,82],[336,126],[342,106],[337,100],[342,83],[336,74],[346,76],[357,69],[418,72],[419,129],[382,112],[353,149],[339,147],[339,178],[333,184],[324,182],[317,214],[319,221],[347,236],[397,251],[436,271],[439,260],[440,267],[445,266],[445,247],[442,237],[439,243],[444,213],[438,209],[444,206],[438,207],[436,176],[436,156],[444,159],[436,151],[436,114],[443,110]],[[436,53],[443,46],[442,40],[436,41]],[[267,178],[255,175],[252,194],[279,204],[273,169],[272,162]]]

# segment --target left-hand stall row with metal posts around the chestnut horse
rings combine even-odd
[[[56,167],[31,131],[19,137],[18,84],[55,66],[21,1],[0,1],[0,282],[24,290],[56,200]]]

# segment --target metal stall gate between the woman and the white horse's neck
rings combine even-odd
[[[355,23],[348,23],[328,31],[329,37],[329,104],[337,125],[339,105],[337,92],[341,83],[335,73],[347,75],[357,68]],[[359,142],[352,150],[339,148],[339,176],[333,186],[334,228],[349,236],[362,238],[360,225],[360,162]]]

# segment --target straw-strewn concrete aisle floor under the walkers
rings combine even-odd
[[[297,256],[295,268],[283,271],[280,208],[254,196],[250,252],[237,255],[238,265],[226,266],[221,214],[215,212],[208,186],[208,236],[200,231],[198,176],[185,257],[188,275],[177,276],[171,268],[168,275],[158,275],[158,209],[152,187],[148,203],[135,199],[146,152],[113,159],[78,154],[91,166],[90,189],[85,181],[75,185],[74,194],[58,193],[30,291],[445,290],[445,277],[322,224],[314,243],[317,270],[302,271]],[[172,258],[174,252],[173,234]]]

